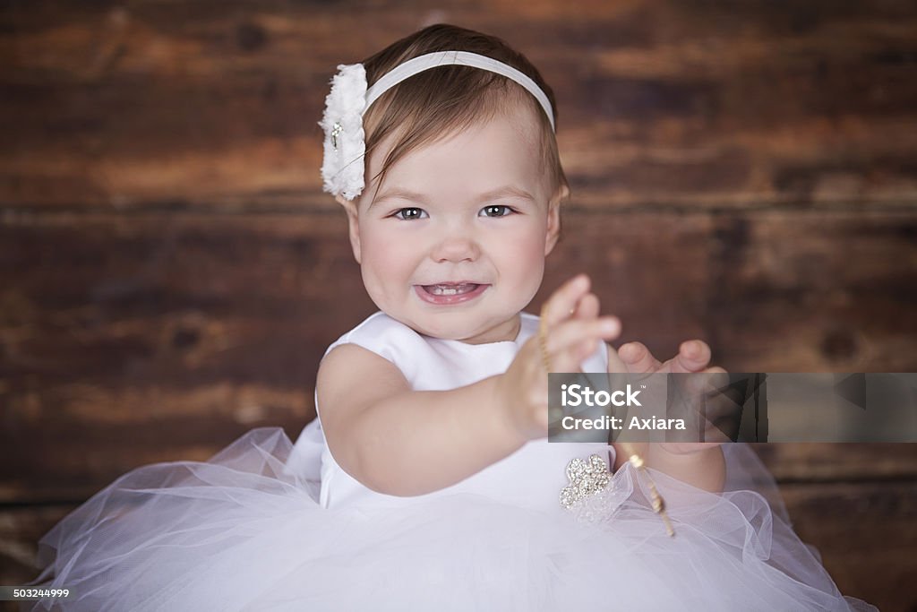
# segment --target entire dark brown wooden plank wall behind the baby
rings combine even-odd
[[[558,98],[573,196],[531,311],[585,271],[660,355],[917,369],[913,2],[6,2],[0,584],[121,473],[314,417],[374,310],[321,191],[327,83],[436,22]],[[841,590],[917,610],[917,445],[757,450]]]

